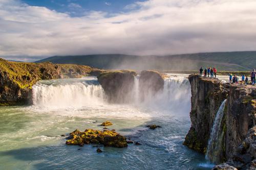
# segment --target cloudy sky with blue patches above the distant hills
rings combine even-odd
[[[0,0],[0,57],[255,51],[255,0]]]

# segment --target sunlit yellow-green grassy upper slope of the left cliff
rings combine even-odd
[[[69,72],[70,68],[83,74],[92,71],[92,68],[89,66],[52,64],[50,62],[13,62],[0,58],[0,75],[6,77],[6,80],[8,79],[17,84],[20,88],[31,88],[33,84],[41,79],[56,79],[58,78],[57,69],[61,69],[61,72],[65,75]]]

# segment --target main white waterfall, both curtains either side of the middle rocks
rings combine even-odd
[[[104,90],[97,78],[60,79],[40,81],[32,87],[33,106],[39,108],[66,109],[108,105]],[[175,114],[190,110],[190,85],[185,77],[171,77],[164,80],[163,90],[152,95],[148,91],[145,100],[140,100],[139,76],[134,78],[131,99],[126,105],[166,110]],[[94,107],[95,108],[95,107]]]

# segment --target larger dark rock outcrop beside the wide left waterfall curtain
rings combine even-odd
[[[110,102],[126,103],[132,98],[135,71],[119,70],[101,73],[97,78]]]

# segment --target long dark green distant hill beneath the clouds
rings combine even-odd
[[[218,52],[170,56],[131,56],[120,54],[54,56],[37,62],[81,64],[105,69],[158,69],[198,70],[199,67],[214,67],[218,70],[243,71],[256,66],[256,52]]]

